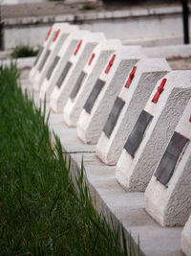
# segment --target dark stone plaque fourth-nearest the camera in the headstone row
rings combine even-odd
[[[91,110],[93,108],[93,106],[95,105],[96,102],[96,98],[99,95],[101,89],[103,88],[105,84],[105,81],[101,81],[101,80],[97,80],[95,83],[95,86],[91,92],[91,94],[89,95],[85,105],[84,105],[84,109],[90,114]]]

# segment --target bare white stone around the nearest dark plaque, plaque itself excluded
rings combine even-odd
[[[165,185],[153,175],[145,191],[145,210],[162,226],[183,225],[191,213],[190,115],[191,100],[175,129],[189,141],[180,153],[173,175]]]

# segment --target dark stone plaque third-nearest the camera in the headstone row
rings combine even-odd
[[[125,102],[117,97],[116,102],[114,103],[110,115],[108,117],[108,120],[103,128],[103,131],[108,138],[110,138],[112,131],[117,124],[117,119],[120,114],[120,111],[123,108],[123,105],[125,105]]]

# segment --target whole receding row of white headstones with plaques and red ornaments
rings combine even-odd
[[[62,112],[77,137],[116,165],[127,191],[145,192],[145,210],[162,226],[191,213],[191,71],[172,71],[102,33],[57,23],[30,74],[41,100]],[[191,255],[191,219],[182,250]],[[186,242],[185,242],[186,241]]]

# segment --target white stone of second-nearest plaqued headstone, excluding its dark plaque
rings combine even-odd
[[[144,191],[146,189],[191,98],[190,71],[172,71],[165,78],[167,81],[158,103],[152,103],[152,99],[161,81],[156,85],[144,107],[147,113],[153,115],[153,119],[143,134],[135,156],[131,156],[123,149],[118,159],[117,180],[127,190]]]

